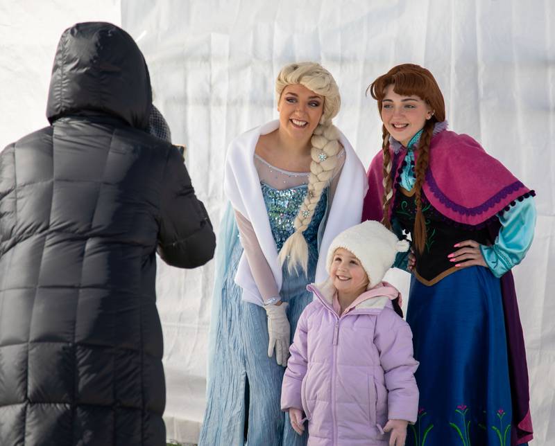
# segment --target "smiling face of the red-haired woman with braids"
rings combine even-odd
[[[402,96],[393,91],[395,85],[389,84],[382,100],[382,121],[386,130],[407,147],[412,137],[424,127],[433,111],[425,100],[418,96]]]

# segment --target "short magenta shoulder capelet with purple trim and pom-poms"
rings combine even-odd
[[[406,150],[394,160],[393,184],[399,175]],[[418,150],[414,152],[415,161]],[[368,168],[368,194],[364,202],[363,220],[382,219],[384,194],[383,153],[379,152]],[[497,159],[490,157],[470,136],[445,130],[432,138],[426,181],[422,187],[426,198],[438,212],[454,222],[475,226],[489,220],[515,199],[531,195],[531,191]],[[390,206],[390,217],[391,209]]]

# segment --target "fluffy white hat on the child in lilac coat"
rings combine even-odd
[[[370,289],[382,282],[387,270],[393,266],[397,253],[406,252],[409,247],[407,240],[399,240],[383,224],[368,220],[345,229],[334,238],[327,250],[327,273],[330,274],[335,250],[346,249],[360,260],[370,280],[367,288]]]

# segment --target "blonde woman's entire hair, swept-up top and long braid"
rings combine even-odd
[[[295,231],[285,240],[278,256],[282,265],[288,260],[289,273],[300,266],[307,274],[308,245],[302,233],[307,230],[312,221],[314,210],[323,190],[332,181],[332,175],[338,163],[337,154],[341,148],[338,141],[339,130],[332,125],[332,118],[339,112],[341,97],[332,74],[315,62],[293,63],[282,68],[275,82],[278,102],[285,87],[291,84],[300,84],[324,97],[323,113],[310,140],[312,161],[307,195],[295,218]]]

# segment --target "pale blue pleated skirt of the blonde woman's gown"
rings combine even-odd
[[[284,368],[268,357],[268,328],[264,308],[241,300],[234,283],[243,248],[233,244],[223,278],[216,320],[214,355],[207,383],[207,407],[199,446],[305,446],[303,436],[291,429],[289,416],[280,409]],[[297,321],[311,302],[307,283],[314,280],[316,256],[309,255],[309,274],[293,276],[284,268],[282,301],[289,303],[291,341]]]

